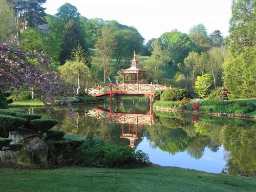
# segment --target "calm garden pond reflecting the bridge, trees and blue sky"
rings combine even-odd
[[[74,118],[65,106],[51,108],[54,129],[68,135],[92,136],[142,150],[151,162],[209,173],[256,173],[255,121],[160,113],[144,96],[119,96],[96,105],[75,105]],[[23,108],[47,117],[44,108]]]

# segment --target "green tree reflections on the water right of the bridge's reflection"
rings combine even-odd
[[[256,125],[253,121],[219,117],[191,117],[157,113],[146,129],[152,147],[200,159],[205,147],[217,152],[224,145],[227,170],[234,175],[256,175]]]

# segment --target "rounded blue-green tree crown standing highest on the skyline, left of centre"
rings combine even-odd
[[[60,19],[64,24],[68,23],[71,19],[78,19],[80,13],[77,12],[77,8],[69,3],[65,3],[58,8],[58,12],[55,17]]]

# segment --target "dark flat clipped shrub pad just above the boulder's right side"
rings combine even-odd
[[[58,120],[56,119],[33,119],[31,120],[31,127],[30,129],[39,132],[39,133],[45,133],[48,130],[50,130],[52,127],[54,127],[56,124],[58,124]]]

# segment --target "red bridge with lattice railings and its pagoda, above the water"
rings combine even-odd
[[[145,84],[146,71],[141,70],[137,66],[139,61],[136,58],[135,51],[134,58],[131,60],[131,62],[132,66],[129,69],[121,69],[123,72],[123,83],[104,84],[103,86],[85,89],[84,92],[92,95],[93,97],[110,95],[110,99],[112,99],[114,94],[148,95],[150,97],[150,102],[152,103],[152,95],[156,90],[168,88],[159,84]],[[126,74],[129,75],[129,78],[126,78]],[[141,75],[143,76],[142,80],[140,80]],[[129,81],[129,83],[126,83],[127,81]]]

